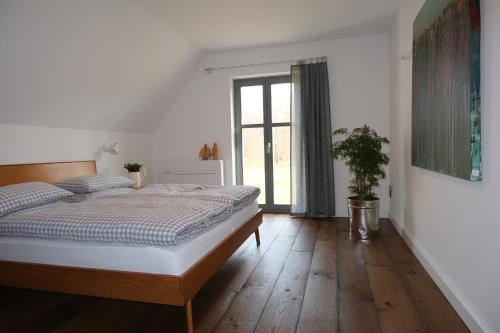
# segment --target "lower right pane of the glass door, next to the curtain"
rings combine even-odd
[[[290,204],[290,126],[273,127],[274,204]]]

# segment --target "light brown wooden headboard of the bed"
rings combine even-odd
[[[34,181],[54,184],[96,173],[95,161],[0,165],[0,186]]]

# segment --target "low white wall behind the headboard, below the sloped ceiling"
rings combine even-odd
[[[102,152],[114,142],[118,155]],[[96,160],[99,173],[126,175],[125,162],[142,162],[153,172],[151,145],[145,134],[0,124],[0,164]]]

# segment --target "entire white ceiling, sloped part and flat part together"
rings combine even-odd
[[[0,123],[152,133],[206,50],[385,31],[399,0],[0,0]]]

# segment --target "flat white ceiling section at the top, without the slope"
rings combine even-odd
[[[400,0],[135,0],[194,44],[241,49],[388,31]]]

